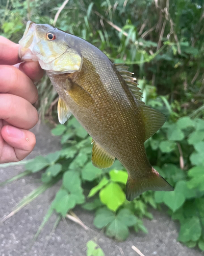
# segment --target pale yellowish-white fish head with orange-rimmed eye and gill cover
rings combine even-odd
[[[68,45],[69,34],[47,24],[28,22],[19,41],[22,61],[39,61],[48,75],[80,71],[82,56]]]

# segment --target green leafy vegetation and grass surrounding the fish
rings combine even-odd
[[[124,194],[127,174],[123,166],[116,161],[105,170],[93,167],[91,138],[72,117],[52,130],[54,135],[61,136],[62,150],[27,163],[27,171],[20,176],[42,170],[43,185],[14,211],[62,179],[39,231],[53,210],[66,216],[67,212],[72,214],[70,210],[75,205],[81,204],[94,210],[97,228],[104,228],[109,237],[125,240],[130,227],[136,232],[148,232],[142,222],[143,217],[153,218],[147,206],[160,209],[164,203],[172,218],[181,224],[178,240],[204,250],[202,0],[69,0],[59,16],[56,13],[62,3],[57,0],[0,3],[0,33],[15,42],[21,38],[27,20],[56,24],[88,40],[112,61],[130,66],[145,103],[168,117],[145,146],[150,163],[175,186],[172,192],[148,191],[127,202]],[[57,95],[47,78],[37,86],[39,113],[56,125]]]

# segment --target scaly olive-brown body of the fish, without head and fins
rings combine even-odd
[[[74,41],[71,37],[75,36],[69,37]],[[94,104],[84,108],[72,101],[68,94],[62,95],[64,89],[61,94],[62,86],[57,85],[70,83],[66,77],[50,77],[52,83],[93,140],[121,161],[131,177],[134,178],[136,173],[136,177],[148,175],[151,166],[144,149],[140,103],[134,99],[109,58],[87,41],[77,39],[74,50],[83,55],[83,66],[72,81],[92,96]]]

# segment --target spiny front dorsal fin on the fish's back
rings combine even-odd
[[[140,88],[138,87],[137,79],[132,77],[134,73],[127,71],[129,69],[128,66],[125,66],[123,63],[114,63],[115,68],[120,73],[122,78],[125,80],[127,86],[130,91],[133,93],[136,99],[140,100],[142,97],[142,93],[140,92]]]

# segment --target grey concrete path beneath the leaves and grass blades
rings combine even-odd
[[[37,137],[35,150],[29,156],[46,155],[60,148],[59,138],[52,137],[48,126],[41,124],[33,129]],[[0,182],[23,171],[23,166],[1,168]],[[8,215],[25,195],[41,185],[39,174],[28,176],[0,187],[0,219]],[[60,184],[45,191],[29,205],[10,219],[0,224],[1,256],[85,256],[86,243],[94,240],[104,250],[106,256],[137,256],[131,248],[135,245],[145,256],[201,256],[198,249],[190,249],[176,241],[179,226],[171,221],[165,212],[152,210],[154,220],[144,219],[149,233],[135,233],[125,242],[107,238],[103,231],[93,226],[93,212],[78,207],[75,214],[88,226],[88,231],[69,220],[62,220],[52,233],[57,215],[53,215],[31,247],[32,239],[55,197]],[[51,233],[51,234],[50,234]]]

